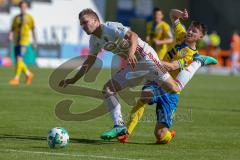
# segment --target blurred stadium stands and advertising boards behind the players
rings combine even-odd
[[[11,44],[8,43],[8,32],[11,20],[18,13],[16,5],[20,0],[0,1],[0,64],[11,66]],[[145,25],[151,19],[152,9],[160,7],[169,21],[171,8],[187,8],[190,20],[199,20],[208,26],[209,34],[216,31],[220,37],[217,44],[221,50],[208,50],[207,44],[201,45],[201,53],[212,55],[220,61],[220,67],[231,66],[230,40],[233,31],[240,29],[238,20],[237,0],[31,0],[30,13],[36,21],[36,30],[39,47],[37,51],[31,46],[25,56],[28,64],[38,67],[55,68],[64,60],[75,56],[85,55],[88,52],[88,36],[78,24],[77,15],[83,8],[93,8],[100,15],[102,21],[119,21],[130,26],[139,36],[145,39]],[[71,11],[71,12],[70,12]],[[188,25],[190,22],[185,24]],[[214,41],[214,40],[213,40]],[[206,50],[207,48],[207,50]],[[111,54],[102,55],[107,59],[105,67],[110,67]],[[121,61],[119,60],[119,65]]]

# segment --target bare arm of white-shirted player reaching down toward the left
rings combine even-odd
[[[73,78],[62,80],[59,83],[59,86],[65,88],[69,84],[74,84],[75,82],[77,82],[84,74],[86,74],[89,71],[89,69],[96,61],[96,58],[97,58],[96,55],[89,55],[86,61],[83,63],[81,69],[77,72],[77,74]]]

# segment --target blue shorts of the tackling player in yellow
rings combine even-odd
[[[155,82],[148,82],[143,89],[153,92],[149,105],[157,104],[156,116],[157,122],[165,124],[168,128],[172,126],[174,114],[176,112],[179,94],[164,91]]]

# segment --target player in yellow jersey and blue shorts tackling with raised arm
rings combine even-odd
[[[200,22],[192,22],[185,31],[185,28],[179,21],[180,18],[187,19],[186,10],[172,10],[170,13],[173,26],[175,43],[169,52],[165,55],[166,67],[171,76],[175,79],[179,78],[179,72],[186,70],[191,72],[193,68],[201,65],[201,59],[196,49],[196,44],[190,45],[189,41],[199,40],[206,34],[206,27]],[[191,42],[191,41],[190,41]],[[171,64],[170,64],[171,62]],[[186,76],[186,75],[185,75]],[[180,77],[184,79],[184,77]],[[187,77],[188,78],[188,77]],[[126,142],[128,136],[132,133],[139,119],[142,117],[146,104],[157,104],[156,116],[157,123],[155,126],[155,137],[158,144],[167,144],[175,136],[175,131],[169,130],[172,126],[172,119],[176,112],[176,107],[180,93],[166,92],[157,83],[147,82],[143,87],[143,92],[137,105],[131,110],[130,120],[127,122],[128,134],[119,136],[120,142]]]

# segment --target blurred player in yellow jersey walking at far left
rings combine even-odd
[[[10,85],[18,85],[22,71],[26,75],[26,84],[31,84],[33,74],[29,71],[23,62],[23,56],[27,46],[30,43],[30,31],[33,36],[33,47],[36,47],[35,24],[33,17],[27,13],[28,3],[21,1],[19,3],[20,14],[15,16],[12,22],[9,40],[14,44],[14,54],[16,58],[15,77],[9,81]]]

